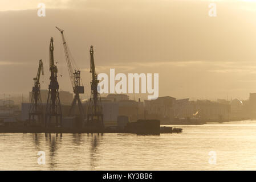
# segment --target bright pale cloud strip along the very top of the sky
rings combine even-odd
[[[188,2],[216,2],[233,3],[237,8],[253,11],[251,5],[255,5],[255,0],[2,0],[0,11],[10,10],[32,10],[38,9],[39,3],[46,4],[47,9],[80,9],[80,10],[101,10],[101,11],[131,11],[131,10],[157,10],[159,7],[173,5],[174,3]],[[244,6],[243,6],[244,5]]]

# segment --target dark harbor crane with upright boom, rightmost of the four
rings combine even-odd
[[[90,73],[92,73],[91,81],[91,97],[89,101],[88,111],[87,111],[87,123],[91,126],[104,127],[103,123],[103,109],[101,106],[100,93],[97,91],[97,85],[99,80],[97,80],[97,74],[95,71],[94,64],[94,47],[90,48]]]

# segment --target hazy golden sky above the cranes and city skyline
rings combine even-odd
[[[37,15],[38,3],[46,5],[45,17]],[[216,17],[208,15],[209,3],[216,3]],[[97,73],[159,73],[160,96],[247,99],[256,92],[256,1],[2,0],[0,24],[1,95],[28,94],[40,59],[41,89],[48,89],[51,37],[60,89],[72,92],[55,26],[64,30],[86,95],[91,45]]]

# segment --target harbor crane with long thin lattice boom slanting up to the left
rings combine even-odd
[[[56,27],[56,28],[62,34],[62,42],[63,42],[64,52],[65,52],[65,57],[66,57],[66,62],[67,62],[67,67],[68,67],[68,73],[70,75],[71,85],[73,88],[73,92],[75,94],[75,97],[74,97],[74,100],[72,101],[72,105],[70,107],[70,111],[69,111],[68,115],[69,116],[72,115],[72,113],[75,109],[76,102],[78,102],[78,108],[80,111],[80,119],[83,121],[84,120],[84,110],[83,110],[83,106],[82,106],[82,102],[80,100],[79,94],[84,93],[84,86],[82,86],[82,84],[81,84],[82,81],[80,79],[80,71],[72,68],[70,56],[68,53],[70,51],[68,50],[67,42],[66,42],[66,40],[64,38],[64,34],[63,34],[64,30],[62,30],[58,27]]]

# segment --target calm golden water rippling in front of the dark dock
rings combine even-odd
[[[0,134],[1,170],[252,170],[256,121],[178,126],[181,134]],[[38,151],[46,164],[38,164]],[[209,164],[215,151],[216,164]]]

